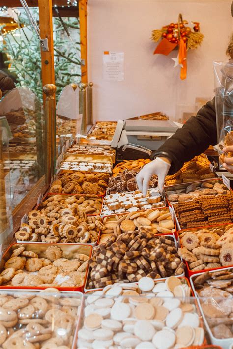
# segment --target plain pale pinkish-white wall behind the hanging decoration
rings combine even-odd
[[[231,0],[88,0],[88,81],[94,83],[94,119],[117,120],[155,111],[175,119],[176,104],[213,96],[214,60],[225,61],[232,30]],[[183,19],[200,22],[204,41],[189,50],[187,78],[169,56],[153,55],[151,31]],[[125,78],[102,78],[103,51],[123,51]]]

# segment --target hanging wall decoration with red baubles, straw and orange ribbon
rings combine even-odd
[[[168,56],[171,51],[178,49],[177,58],[172,58],[174,67],[180,66],[180,79],[184,80],[187,75],[187,50],[196,49],[201,45],[204,35],[200,33],[199,22],[183,20],[179,14],[178,23],[170,23],[162,29],[152,31],[151,40],[159,42],[154,55]]]

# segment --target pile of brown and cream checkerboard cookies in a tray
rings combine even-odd
[[[184,272],[173,237],[156,237],[143,227],[137,231],[112,234],[105,244],[94,248],[89,265],[88,288],[104,287],[123,280],[137,282],[144,276],[158,279]]]

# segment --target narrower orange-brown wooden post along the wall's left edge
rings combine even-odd
[[[80,42],[81,42],[81,81],[87,83],[87,0],[79,0],[79,24],[80,24]]]

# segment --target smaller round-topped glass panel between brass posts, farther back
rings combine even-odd
[[[79,128],[79,94],[71,85],[63,88],[56,107],[56,159],[66,145],[67,135],[76,136]]]

